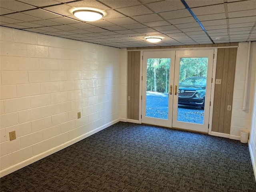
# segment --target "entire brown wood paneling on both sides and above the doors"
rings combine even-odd
[[[204,44],[187,46],[165,47],[138,47],[127,50],[166,49],[166,48],[197,48],[197,47],[224,47],[238,46],[238,43]],[[231,111],[227,106],[232,106],[234,77],[236,68],[237,48],[218,48],[216,79],[221,79],[221,84],[215,84],[214,106],[212,118],[212,131],[230,134]],[[128,96],[131,97],[127,104],[127,118],[139,120],[139,94],[140,93],[140,51],[128,51]]]

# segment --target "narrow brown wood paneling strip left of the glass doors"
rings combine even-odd
[[[139,120],[140,104],[140,51],[128,52],[128,90],[127,118]]]

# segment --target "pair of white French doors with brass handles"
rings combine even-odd
[[[208,132],[213,54],[143,52],[142,123]]]

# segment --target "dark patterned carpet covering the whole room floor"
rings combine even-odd
[[[7,192],[256,192],[247,144],[118,122],[1,178]]]

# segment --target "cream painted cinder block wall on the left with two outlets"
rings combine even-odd
[[[6,27],[0,34],[1,176],[119,121],[121,49]]]

